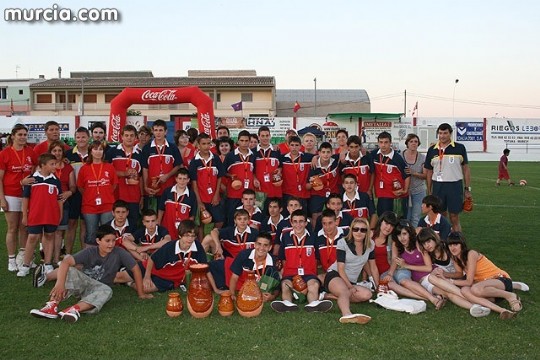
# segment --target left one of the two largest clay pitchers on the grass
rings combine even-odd
[[[212,287],[206,276],[208,264],[193,264],[189,269],[191,270],[187,300],[189,313],[196,318],[207,317],[214,307]]]

